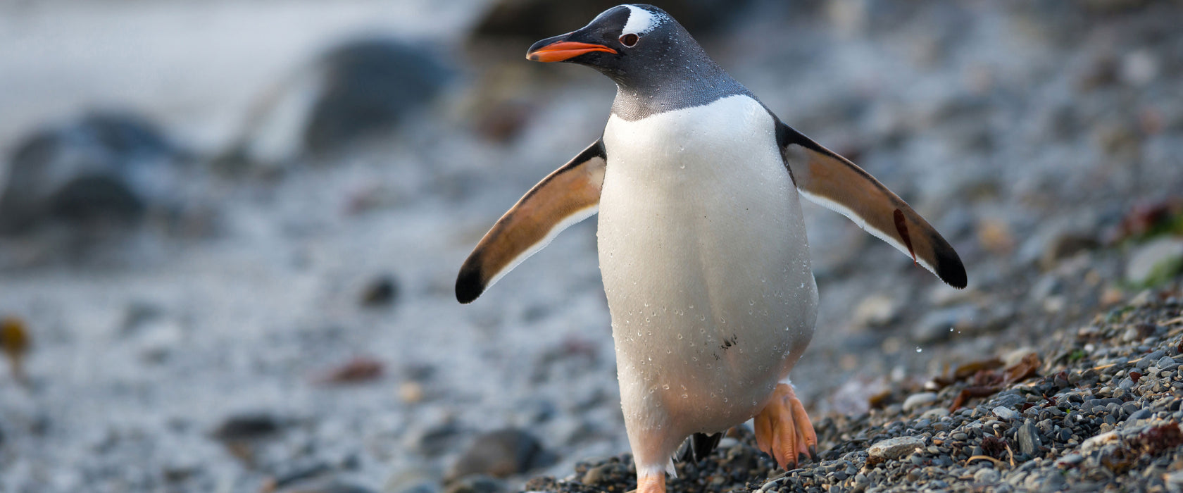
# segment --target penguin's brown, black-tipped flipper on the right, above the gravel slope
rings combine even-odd
[[[801,195],[849,218],[945,284],[965,287],[965,266],[953,247],[874,176],[780,121],[776,141]]]

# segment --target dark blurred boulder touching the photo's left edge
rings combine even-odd
[[[176,164],[187,158],[148,121],[116,112],[39,130],[15,149],[0,190],[0,234],[50,220],[132,223],[168,203]]]

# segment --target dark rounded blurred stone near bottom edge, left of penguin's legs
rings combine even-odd
[[[477,436],[446,475],[453,481],[472,474],[505,478],[552,463],[554,455],[529,432],[505,428]]]

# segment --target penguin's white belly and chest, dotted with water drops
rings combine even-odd
[[[732,96],[613,116],[603,141],[600,270],[626,421],[677,440],[745,421],[809,344],[817,305],[772,118]]]

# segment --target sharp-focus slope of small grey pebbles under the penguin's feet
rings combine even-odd
[[[1183,488],[1183,298],[1176,287],[1064,329],[1035,349],[967,363],[924,390],[878,396],[859,416],[816,421],[816,463],[776,469],[748,428],[697,463],[677,492],[1175,492]],[[976,370],[976,371],[975,371]],[[1015,380],[1004,383],[1008,378]],[[925,390],[929,389],[929,390]],[[939,389],[939,390],[938,390]],[[936,390],[936,391],[932,391]],[[962,394],[968,398],[959,397]],[[898,400],[897,400],[898,401]],[[626,492],[627,454],[528,491]]]

